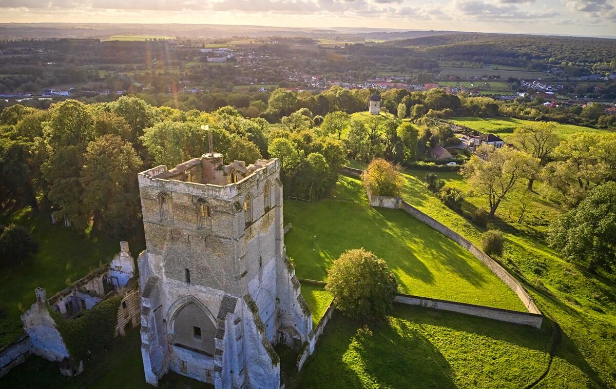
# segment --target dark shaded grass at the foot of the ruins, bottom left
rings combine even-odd
[[[75,378],[60,374],[57,362],[39,356],[30,356],[26,363],[12,369],[0,379],[4,388],[152,388],[145,383],[141,359],[141,339],[135,328],[116,343],[103,356],[84,362],[84,371]],[[161,388],[213,388],[212,385],[168,372],[159,383]]]

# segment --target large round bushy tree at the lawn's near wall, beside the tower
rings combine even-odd
[[[327,271],[325,290],[344,315],[359,319],[383,317],[391,310],[398,284],[387,263],[362,249],[347,250]]]

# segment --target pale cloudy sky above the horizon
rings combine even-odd
[[[616,35],[616,0],[0,0],[0,22],[216,23]]]

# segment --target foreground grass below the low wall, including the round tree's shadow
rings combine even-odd
[[[299,388],[522,388],[548,365],[551,330],[396,304],[362,326],[339,313]]]

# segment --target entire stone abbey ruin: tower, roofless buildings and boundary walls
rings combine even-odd
[[[344,167],[359,176],[361,170]],[[169,371],[216,388],[278,388],[284,343],[299,350],[297,369],[314,353],[334,310],[313,328],[312,313],[286,255],[280,161],[233,161],[210,148],[200,158],[138,176],[146,249],[139,277],[128,243],[120,254],[22,315],[25,335],[0,351],[0,375],[34,353],[76,375],[83,361],[71,355],[53,315],[71,320],[120,297],[115,335],[140,325],[145,380],[157,386]],[[402,209],[463,246],[522,300],[527,312],[412,295],[395,301],[437,310],[540,327],[543,316],[519,282],[476,246],[401,198],[372,196],[373,207]],[[290,227],[290,226],[289,226]],[[315,281],[313,281],[315,282]],[[114,313],[115,315],[115,313]]]

